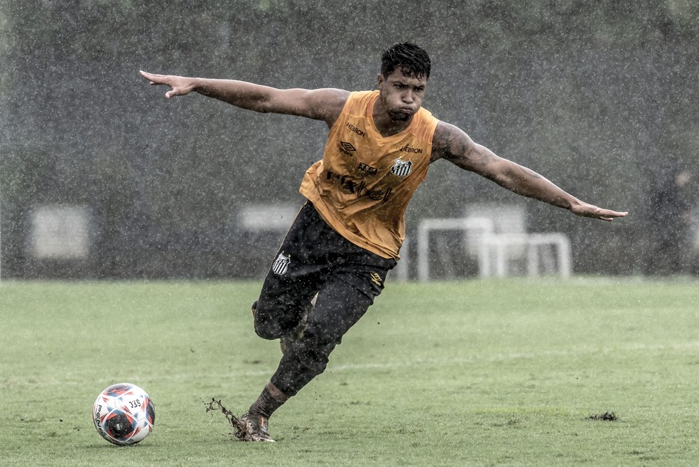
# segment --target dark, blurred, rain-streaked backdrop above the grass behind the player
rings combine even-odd
[[[138,70],[365,90],[398,41],[430,52],[436,117],[631,213],[575,218],[440,161],[408,235],[469,203],[524,203],[529,230],[570,235],[575,272],[690,272],[695,253],[663,259],[662,247],[683,241],[699,201],[698,37],[688,0],[0,0],[3,277],[259,277],[276,245],[240,242],[237,213],[300,203],[327,129],[165,100]],[[56,203],[90,208],[85,264],[47,269],[29,254],[33,208]]]

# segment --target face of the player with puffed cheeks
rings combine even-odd
[[[378,80],[379,99],[391,119],[395,122],[411,119],[422,105],[427,78],[405,76],[401,68],[396,68],[388,76],[379,75]]]

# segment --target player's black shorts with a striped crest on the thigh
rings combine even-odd
[[[335,232],[307,202],[264,281],[256,306],[256,331],[268,339],[285,335],[298,325],[315,294],[317,311],[322,314],[327,308],[352,326],[384,289],[386,274],[395,266],[395,259],[380,257]],[[331,323],[325,327],[335,328],[332,334],[339,333],[338,338],[349,329]]]

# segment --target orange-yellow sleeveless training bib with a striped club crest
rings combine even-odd
[[[350,94],[323,160],[306,171],[299,191],[354,245],[399,259],[403,215],[427,176],[438,119],[421,108],[408,128],[384,138],[372,117],[378,97],[379,91]]]

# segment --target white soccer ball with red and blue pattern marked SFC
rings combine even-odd
[[[100,392],[92,415],[99,436],[119,446],[143,441],[156,420],[153,401],[146,391],[128,382]]]

